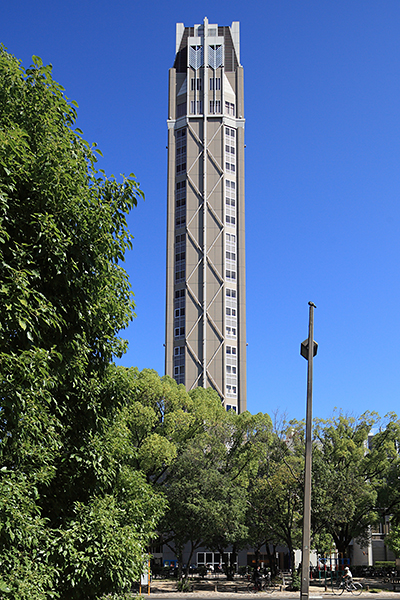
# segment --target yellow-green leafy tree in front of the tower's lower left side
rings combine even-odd
[[[184,546],[191,542],[192,552],[198,547],[199,527],[204,525],[199,501],[207,496],[206,481],[198,470],[198,451],[205,431],[226,418],[226,412],[212,389],[188,394],[170,377],[160,378],[150,369],[111,368],[105,393],[121,406],[105,435],[116,459],[111,471],[126,462],[168,499],[158,531],[175,551],[181,577]],[[105,474],[109,472],[110,465]]]

